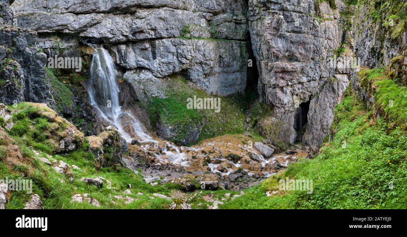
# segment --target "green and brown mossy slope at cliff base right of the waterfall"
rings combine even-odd
[[[188,109],[188,98],[220,98],[221,110]],[[151,124],[158,121],[175,127],[177,137],[172,141],[179,143],[188,135],[190,127],[202,127],[199,140],[223,134],[243,133],[243,121],[248,109],[247,101],[241,94],[228,97],[213,96],[204,90],[192,88],[184,78],[171,79],[171,87],[166,90],[165,99],[155,98],[148,105]]]

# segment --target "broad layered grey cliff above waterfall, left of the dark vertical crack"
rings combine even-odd
[[[147,68],[156,77],[181,73],[209,93],[244,92],[249,34],[243,1],[95,2],[18,0],[13,9],[19,26],[42,33],[38,45],[46,50],[57,40],[72,49],[96,38],[114,44],[109,51],[127,70]]]

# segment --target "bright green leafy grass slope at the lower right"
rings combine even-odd
[[[386,122],[375,120],[353,95],[336,114],[338,132],[321,154],[300,159],[221,208],[406,208],[406,133],[387,134]],[[285,177],[313,180],[313,193],[278,191],[278,180]],[[266,191],[278,192],[267,197]]]

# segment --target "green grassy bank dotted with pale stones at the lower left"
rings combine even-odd
[[[89,143],[86,139],[79,149],[68,155],[55,154],[54,147],[46,142],[41,142],[41,140],[44,138],[46,140],[44,134],[48,134],[50,129],[55,128],[56,122],[49,121],[42,112],[40,113],[41,108],[27,103],[11,106],[10,109],[15,125],[7,135],[0,131],[0,179],[8,177],[9,180],[33,180],[33,193],[41,197],[44,208],[169,207],[170,201],[158,197],[152,200],[150,196],[152,193],[170,195],[173,191],[171,184],[151,186],[144,182],[139,174],[121,167],[96,169],[95,157],[88,152]],[[59,130],[63,130],[63,127],[60,127]],[[39,151],[39,154],[34,154],[29,148],[30,146]],[[74,180],[70,183],[61,173],[39,161],[39,157],[51,162],[63,160],[70,165],[81,167],[81,170],[72,169]],[[82,177],[98,176],[112,182],[112,187],[107,186],[105,182],[104,187],[99,189],[80,181]],[[123,194],[123,191],[128,189],[129,184],[131,184],[131,191],[134,194]],[[144,195],[136,195],[139,191]],[[88,193],[89,197],[96,198],[101,206],[95,207],[88,202],[71,203],[72,196],[77,193]],[[115,195],[129,196],[136,200],[130,204],[125,204],[125,200],[116,199]],[[6,208],[23,208],[30,197],[31,194],[27,194],[25,191],[11,191],[11,198]]]

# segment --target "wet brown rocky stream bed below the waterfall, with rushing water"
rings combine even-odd
[[[302,146],[296,145],[291,154],[265,158],[256,148],[245,145],[248,141],[243,135],[225,135],[193,147],[177,147],[170,142],[129,145],[129,156],[123,162],[136,172],[141,169],[145,181],[152,185],[171,182],[185,191],[193,187],[239,190],[285,169],[298,156],[307,156]]]

